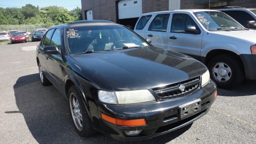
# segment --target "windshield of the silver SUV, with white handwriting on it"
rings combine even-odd
[[[238,22],[230,18],[230,16],[228,16],[224,12],[204,11],[194,12],[194,15],[201,22],[204,28],[208,30],[244,29],[242,25],[240,25]]]

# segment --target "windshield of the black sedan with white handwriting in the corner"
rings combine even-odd
[[[70,27],[66,37],[71,54],[148,46],[146,40],[120,25]]]

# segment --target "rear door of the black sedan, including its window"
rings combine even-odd
[[[45,35],[44,38],[42,40],[42,42],[40,43],[40,45],[37,48],[37,52],[38,52],[38,59],[39,62],[42,66],[42,70],[44,71],[44,74],[46,75],[47,78],[49,78],[50,81],[52,81],[50,79],[50,75],[48,74],[48,69],[46,66],[46,55],[44,54],[44,47],[46,46],[50,46],[50,39],[52,37],[52,34],[54,32],[54,29],[49,30]]]

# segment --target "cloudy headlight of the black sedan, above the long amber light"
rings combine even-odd
[[[130,90],[118,92],[99,90],[98,97],[100,101],[108,104],[136,104],[156,100],[149,90]]]

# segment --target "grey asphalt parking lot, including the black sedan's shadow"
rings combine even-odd
[[[100,133],[76,134],[68,100],[54,86],[40,84],[37,44],[0,45],[0,143],[120,143]],[[256,143],[255,88],[255,80],[246,80],[233,90],[218,89],[210,112],[192,126],[131,143]]]

